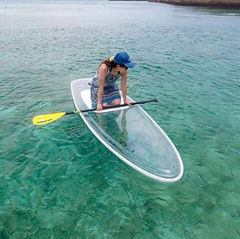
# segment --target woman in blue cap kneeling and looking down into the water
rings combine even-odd
[[[119,52],[115,56],[103,61],[97,75],[91,83],[92,107],[101,111],[108,105],[120,105],[121,96],[117,86],[117,80],[121,78],[121,88],[124,104],[127,101],[127,73],[128,68],[133,68],[135,64],[130,60],[126,52]]]

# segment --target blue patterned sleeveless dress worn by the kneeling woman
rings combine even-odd
[[[118,85],[116,83],[119,78],[120,78],[120,73],[118,73],[118,75],[116,76],[113,76],[110,73],[110,69],[108,68],[108,71],[104,80],[102,104],[111,103],[116,99],[121,99]],[[95,77],[93,77],[91,82],[91,100],[92,100],[92,108],[97,108],[98,74]]]

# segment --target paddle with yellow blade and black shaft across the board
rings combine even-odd
[[[130,103],[131,105],[140,105],[140,104],[145,104],[149,102],[158,102],[157,99],[152,99],[152,100],[146,100],[146,101],[139,101],[139,102],[132,102]],[[112,109],[112,108],[119,108],[123,106],[128,106],[128,104],[121,104],[121,105],[112,105],[112,106],[107,106],[104,107],[103,109]],[[79,113],[84,113],[84,112],[90,112],[90,111],[96,111],[96,109],[86,109],[86,110],[80,110],[80,111],[73,111],[73,112],[58,112],[58,113],[53,113],[53,114],[46,114],[46,115],[38,115],[35,116],[32,120],[33,124],[35,125],[43,125],[43,124],[49,124],[55,120],[60,119],[64,115],[71,115],[71,114],[79,114]]]

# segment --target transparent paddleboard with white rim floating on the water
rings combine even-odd
[[[91,78],[85,78],[71,83],[78,111],[92,108],[90,82]],[[140,105],[80,116],[100,142],[140,173],[161,182],[176,182],[182,177],[183,163],[176,147]]]

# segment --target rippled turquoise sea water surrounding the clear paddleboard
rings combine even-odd
[[[240,238],[240,12],[148,2],[0,1],[0,238]],[[70,82],[129,52],[129,95],[185,166],[155,182],[72,111]]]

